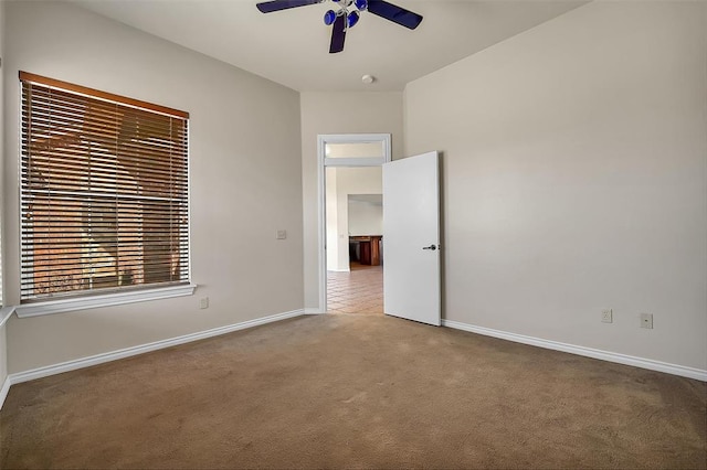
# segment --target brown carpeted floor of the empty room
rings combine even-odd
[[[706,468],[707,384],[312,316],[13,385],[0,468]]]

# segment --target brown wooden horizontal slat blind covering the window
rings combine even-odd
[[[20,79],[21,300],[188,282],[188,115]]]

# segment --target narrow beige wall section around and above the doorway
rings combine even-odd
[[[390,133],[392,158],[402,152],[402,94],[302,93],[305,307],[319,309],[317,135]]]

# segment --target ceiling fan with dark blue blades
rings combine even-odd
[[[257,3],[257,9],[263,13],[287,10],[288,8],[306,7],[308,4],[323,3],[327,0],[271,0]],[[331,43],[329,53],[344,51],[346,31],[354,28],[362,11],[368,11],[386,20],[398,23],[401,26],[414,30],[422,22],[422,17],[404,8],[397,7],[383,0],[331,0],[336,3],[336,11],[328,10],[324,14],[324,23],[331,28]]]

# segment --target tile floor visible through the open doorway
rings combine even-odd
[[[351,263],[349,273],[327,271],[331,313],[383,314],[383,267]]]

